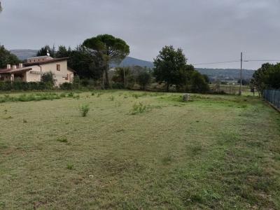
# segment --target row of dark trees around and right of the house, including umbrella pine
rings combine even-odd
[[[209,90],[207,76],[187,64],[188,59],[183,54],[183,50],[174,49],[172,45],[160,50],[159,55],[154,59],[154,69],[141,66],[115,68],[111,76],[112,84],[109,79],[111,64],[120,64],[130,54],[130,46],[121,38],[102,34],[87,38],[74,49],[59,45],[56,50],[54,46],[51,48],[50,45],[45,45],[38,50],[36,56],[45,56],[47,53],[55,58],[68,57],[69,67],[76,71],[76,75],[85,85],[86,80],[102,81],[104,88],[112,86],[132,88],[134,83],[138,83],[141,89],[145,90],[153,81],[164,84],[167,91],[170,87],[175,87],[177,91],[207,92]],[[6,64],[20,62],[3,46],[0,48],[0,57],[4,58],[0,59],[1,68],[5,68]]]

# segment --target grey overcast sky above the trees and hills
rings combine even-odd
[[[241,51],[245,59],[280,59],[280,0],[0,1],[0,43],[8,49],[75,47],[112,34],[130,45],[131,57],[149,61],[164,45],[183,48],[192,64],[239,59]]]

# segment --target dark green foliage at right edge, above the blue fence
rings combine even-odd
[[[252,86],[254,86],[260,94],[263,90],[279,89],[280,88],[280,63],[279,64],[262,64],[260,69],[255,71],[253,79],[251,80]]]

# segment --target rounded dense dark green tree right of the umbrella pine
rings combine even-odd
[[[165,46],[154,59],[154,76],[159,83],[166,83],[166,90],[170,85],[179,87],[188,80],[188,72],[194,71],[193,66],[187,65],[187,59],[180,48],[175,50],[172,45]]]

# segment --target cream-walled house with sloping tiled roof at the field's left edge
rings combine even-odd
[[[30,57],[25,64],[8,64],[6,69],[0,69],[0,80],[24,82],[39,82],[43,73],[51,71],[55,76],[55,85],[71,83],[73,69],[67,66],[67,58],[52,58],[49,56]]]

